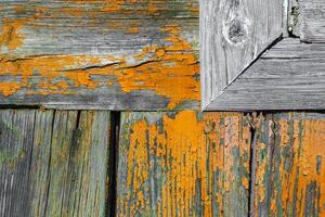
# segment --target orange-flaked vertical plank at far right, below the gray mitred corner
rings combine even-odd
[[[256,132],[253,216],[324,216],[325,116],[277,113]]]

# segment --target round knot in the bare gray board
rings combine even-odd
[[[245,22],[235,18],[223,26],[223,36],[231,44],[243,44],[248,36],[247,25]]]

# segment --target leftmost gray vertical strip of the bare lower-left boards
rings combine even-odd
[[[0,216],[29,209],[29,170],[35,111],[0,111]]]

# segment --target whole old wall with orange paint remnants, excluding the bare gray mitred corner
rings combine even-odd
[[[0,104],[105,111],[0,110],[0,216],[325,215],[322,112],[198,112],[198,1],[22,2]]]

